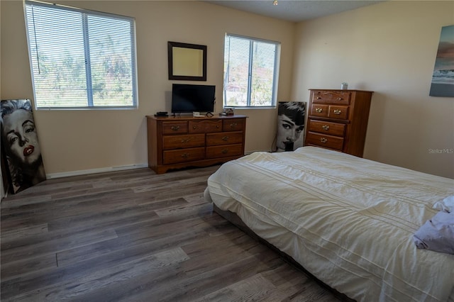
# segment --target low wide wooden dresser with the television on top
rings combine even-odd
[[[244,155],[246,116],[212,118],[147,116],[148,167],[205,167]]]

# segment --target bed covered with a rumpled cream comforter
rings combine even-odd
[[[414,233],[454,180],[319,147],[223,164],[205,198],[356,301],[454,301],[454,255]]]

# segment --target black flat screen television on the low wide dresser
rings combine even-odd
[[[214,85],[172,84],[172,113],[214,111]]]

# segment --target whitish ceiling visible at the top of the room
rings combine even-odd
[[[273,0],[213,0],[206,2],[262,16],[300,22],[333,13],[351,11],[382,1],[384,0],[277,0],[277,5],[272,5]]]

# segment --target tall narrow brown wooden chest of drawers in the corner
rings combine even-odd
[[[373,91],[309,90],[304,145],[362,157]]]

